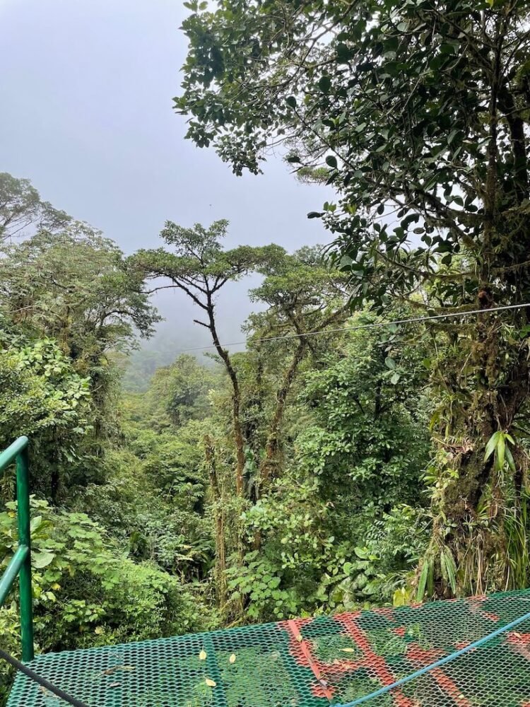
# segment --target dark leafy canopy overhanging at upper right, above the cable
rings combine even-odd
[[[337,234],[355,300],[384,305],[425,282],[452,304],[481,288],[524,296],[526,1],[189,7],[175,99],[188,137],[238,174],[285,141],[305,177],[334,185],[339,203],[310,216]],[[437,276],[440,259],[457,267]]]

